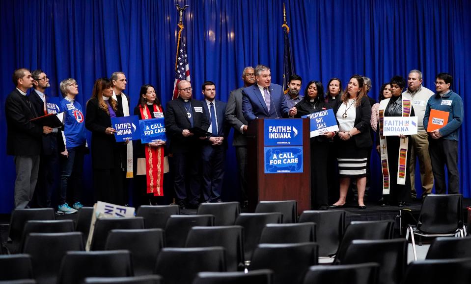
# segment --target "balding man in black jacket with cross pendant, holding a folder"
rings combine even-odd
[[[177,85],[178,97],[167,103],[165,125],[169,138],[170,153],[173,153],[174,188],[180,208],[197,208],[201,193],[199,168],[202,141],[190,131],[193,127],[208,129],[203,103],[192,99],[192,85],[182,80]],[[185,187],[189,179],[189,195]]]

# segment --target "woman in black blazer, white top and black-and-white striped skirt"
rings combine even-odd
[[[334,108],[339,128],[335,142],[338,144],[336,149],[340,197],[329,208],[344,206],[352,178],[357,179],[358,206],[360,209],[366,208],[363,201],[366,186],[366,161],[372,142],[369,132],[371,105],[366,96],[365,87],[363,77],[353,75]]]

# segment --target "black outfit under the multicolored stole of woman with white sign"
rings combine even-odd
[[[385,117],[402,117],[402,95],[392,96],[386,106]],[[414,108],[411,107],[411,117],[415,116]],[[378,128],[379,129],[379,123]],[[376,143],[380,144],[380,131],[376,132]],[[391,205],[397,205],[399,202],[409,202],[411,199],[411,172],[409,164],[406,166],[406,183],[404,185],[397,184],[397,169],[399,167],[399,145],[401,142],[398,136],[386,136],[388,145],[388,169],[389,169],[389,196],[387,202]],[[411,142],[408,143],[408,151],[406,161],[409,163],[411,156]]]

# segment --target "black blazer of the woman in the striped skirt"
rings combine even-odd
[[[340,105],[342,105],[342,100],[338,99],[337,103],[334,107],[333,114],[336,114]],[[352,139],[355,140],[355,144],[359,148],[371,147],[373,142],[371,141],[370,136],[370,126],[369,121],[371,120],[371,105],[370,101],[367,96],[364,96],[361,101],[360,105],[355,108],[356,110],[356,117],[355,117],[355,128],[357,128],[360,133],[357,135],[352,136]],[[336,119],[336,117],[335,117]],[[338,120],[337,120],[338,124]],[[335,136],[337,138],[337,136]],[[338,139],[338,138],[337,138]]]

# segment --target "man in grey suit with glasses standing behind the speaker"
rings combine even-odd
[[[242,207],[247,208],[249,198],[247,196],[247,138],[245,133],[249,122],[242,114],[242,90],[255,84],[255,71],[251,66],[242,71],[244,86],[232,91],[227,101],[225,118],[227,123],[234,128],[232,146],[236,150],[237,165],[239,167],[239,181],[241,189]]]

